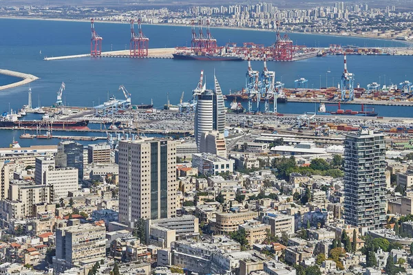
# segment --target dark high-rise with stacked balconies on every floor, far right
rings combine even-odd
[[[357,227],[385,225],[384,135],[361,130],[344,142],[344,219]]]

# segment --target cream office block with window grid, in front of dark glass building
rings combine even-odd
[[[74,167],[55,168],[44,173],[44,182],[50,186],[50,200],[58,203],[69,192],[78,190],[78,169]]]

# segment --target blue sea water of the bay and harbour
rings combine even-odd
[[[95,23],[96,31],[103,36],[103,51],[129,48],[129,24]],[[165,25],[142,25],[149,37],[149,47],[176,47],[190,44],[191,28]],[[213,73],[220,81],[224,94],[245,85],[246,62],[179,61],[173,59],[130,58],[77,58],[61,61],[43,61],[45,56],[86,54],[90,50],[90,25],[87,22],[0,19],[0,67],[38,76],[30,83],[33,106],[50,106],[56,102],[56,91],[64,81],[63,100],[67,105],[92,106],[107,100],[107,91],[122,98],[119,85],[125,85],[132,95],[132,103],[149,103],[156,107],[167,102],[178,103],[182,91],[184,100],[198,83],[203,69],[207,87],[213,85]],[[254,30],[229,30],[212,28],[211,33],[219,45],[226,42],[253,41],[264,45],[275,42],[274,32]],[[360,39],[352,37],[314,34],[288,34],[299,45],[328,47],[329,44],[359,45],[368,47],[405,47],[401,41]],[[355,83],[366,87],[368,83],[381,85],[413,81],[411,65],[413,56],[348,56],[348,69],[355,74]],[[339,83],[343,72],[342,56],[311,58],[293,63],[269,62],[268,68],[276,72],[277,80],[294,87],[294,80],[307,78],[308,87],[325,87]],[[261,62],[253,62],[253,69],[262,70]],[[330,71],[330,73],[327,73]],[[0,77],[2,81],[9,78]],[[0,91],[0,111],[19,109],[26,104],[28,85]],[[359,109],[359,107],[352,107]],[[413,117],[411,107],[377,106],[384,116]],[[288,103],[279,106],[284,113],[314,111],[313,104]],[[4,135],[3,132],[0,136]],[[10,135],[6,139],[8,139]],[[10,138],[9,138],[10,139]],[[5,140],[5,139],[3,139]],[[9,142],[9,141],[8,141]],[[4,144],[0,144],[4,145]]]

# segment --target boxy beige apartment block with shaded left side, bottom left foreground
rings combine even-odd
[[[94,262],[106,256],[105,226],[101,223],[74,225],[56,229],[55,272],[64,272],[81,266],[89,260]]]

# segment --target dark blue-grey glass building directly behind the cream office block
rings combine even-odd
[[[56,168],[74,167],[78,169],[79,179],[83,179],[83,145],[78,142],[64,141],[57,146]]]

